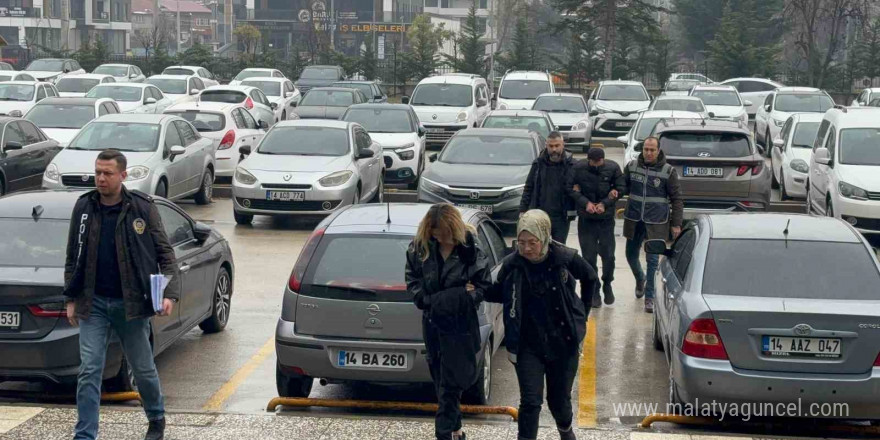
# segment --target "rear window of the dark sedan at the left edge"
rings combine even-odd
[[[0,266],[64,267],[69,230],[68,220],[0,218]]]

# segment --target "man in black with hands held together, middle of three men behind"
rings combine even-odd
[[[605,304],[613,304],[614,207],[618,195],[626,192],[623,172],[616,162],[605,160],[605,150],[591,148],[587,160],[578,162],[572,169],[567,187],[577,206],[581,253],[595,268],[598,268],[596,255],[602,257],[602,293]],[[598,289],[593,294],[592,306],[602,306]]]

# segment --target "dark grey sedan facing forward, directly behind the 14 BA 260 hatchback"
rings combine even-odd
[[[529,169],[543,149],[541,137],[527,130],[463,130],[429,157],[418,200],[476,209],[513,225]]]

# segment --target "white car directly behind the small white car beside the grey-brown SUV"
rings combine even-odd
[[[823,114],[834,107],[834,100],[812,87],[782,87],[770,92],[755,115],[755,141],[769,152],[782,125],[794,113]]]

